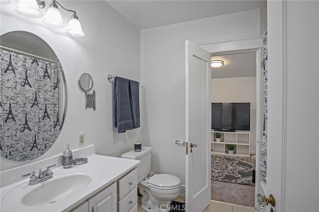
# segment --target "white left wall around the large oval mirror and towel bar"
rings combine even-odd
[[[63,1],[61,3],[64,7],[76,10],[85,33],[84,37],[71,37],[61,29],[45,26],[41,18],[17,14],[14,12],[16,3],[12,1],[11,4],[1,5],[1,34],[23,30],[41,37],[58,56],[67,83],[64,126],[54,145],[36,160],[62,154],[66,143],[70,143],[71,149],[79,148],[79,133],[85,133],[85,145],[96,145],[97,154],[121,156],[133,149],[134,142],[140,141],[141,128],[120,134],[113,128],[114,81],[109,82],[106,76],[112,74],[140,81],[140,30],[105,1]],[[49,4],[50,1],[46,0],[46,5]],[[62,9],[60,11],[64,23],[68,23],[71,13]],[[84,93],[78,88],[78,79],[85,72],[94,81],[91,93],[96,91],[95,111],[85,109]],[[143,89],[141,85],[141,92]],[[0,159],[1,170],[25,163],[28,162]]]

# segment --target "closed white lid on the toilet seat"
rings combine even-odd
[[[173,175],[168,174],[157,174],[153,175],[149,184],[157,186],[157,187],[175,187],[180,185],[180,179]]]

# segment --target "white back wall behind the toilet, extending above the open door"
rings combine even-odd
[[[205,43],[260,35],[260,10],[221,15],[141,32],[143,143],[153,147],[152,169],[185,183],[185,40]]]

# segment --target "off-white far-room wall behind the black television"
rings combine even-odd
[[[256,77],[211,79],[212,103],[250,103],[250,152],[256,152]]]

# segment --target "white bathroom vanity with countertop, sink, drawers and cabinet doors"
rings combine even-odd
[[[140,161],[96,155],[94,145],[74,150],[73,155],[87,157],[88,162],[65,169],[57,155],[1,172],[0,211],[137,212]],[[22,174],[36,171],[34,167],[54,163],[53,177],[47,181],[30,186],[28,178],[21,179]]]

